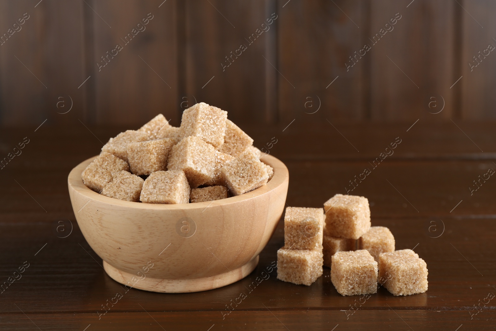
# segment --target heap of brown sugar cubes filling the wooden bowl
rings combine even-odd
[[[261,156],[226,111],[202,102],[183,112],[179,128],[160,114],[110,138],[81,177],[91,190],[115,199],[212,201],[267,184],[274,170]]]

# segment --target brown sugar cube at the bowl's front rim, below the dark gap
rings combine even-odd
[[[183,171],[156,171],[143,183],[139,197],[148,203],[189,203],[189,185]]]

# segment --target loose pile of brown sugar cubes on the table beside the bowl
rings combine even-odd
[[[327,266],[342,295],[376,293],[377,283],[394,295],[427,291],[426,262],[413,250],[395,251],[391,231],[371,226],[367,198],[337,194],[324,209],[286,208],[278,279],[310,285]]]

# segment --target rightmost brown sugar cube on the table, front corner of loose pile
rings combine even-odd
[[[379,254],[379,282],[393,295],[424,293],[427,264],[412,250]]]

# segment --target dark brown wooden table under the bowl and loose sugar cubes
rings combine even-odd
[[[369,198],[372,225],[391,229],[397,249],[415,249],[429,268],[426,293],[395,297],[379,288],[365,302],[339,295],[330,269],[311,286],[269,278],[248,285],[276,261],[283,223],[245,279],[215,290],[160,294],[131,289],[105,315],[123,287],[77,227],[66,177],[102,142],[124,128],[5,129],[1,157],[29,143],[0,170],[1,330],[496,330],[496,169],[494,123],[330,125],[292,123],[244,128],[289,168],[287,204],[321,207],[401,139],[350,194]],[[458,127],[457,127],[458,126]],[[410,128],[410,129],[409,129]],[[285,129],[283,131],[283,129]],[[91,131],[90,131],[91,130]],[[99,141],[101,140],[101,141]],[[187,259],[187,257],[185,257]],[[247,298],[230,312],[241,292]],[[353,308],[353,309],[352,309]]]

